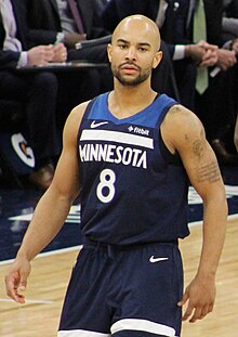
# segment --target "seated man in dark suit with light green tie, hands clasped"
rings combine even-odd
[[[222,11],[223,1],[221,0],[183,0],[183,5],[187,5],[187,14],[184,16],[184,36],[195,43],[195,22],[198,9],[203,4],[206,36],[203,43],[204,54],[200,62],[195,62],[196,80],[195,80],[195,112],[201,119],[207,138],[216,153],[221,164],[234,164],[237,161],[236,155],[229,153],[226,148],[226,137],[229,131],[229,125],[234,120],[234,102],[232,98],[232,86],[234,76],[234,66],[236,65],[235,53],[223,48],[222,41]],[[186,9],[185,5],[185,9]],[[186,13],[186,11],[184,11]],[[201,27],[200,27],[201,29]],[[180,29],[183,36],[183,29]],[[174,29],[175,42],[181,42],[177,30]],[[211,44],[215,46],[211,49]],[[193,44],[191,44],[193,46]],[[189,50],[190,47],[188,47]],[[186,49],[185,49],[186,51]],[[191,61],[194,61],[191,59]],[[199,65],[199,66],[198,66]],[[200,69],[207,68],[207,87],[199,90],[197,87],[198,75]],[[216,76],[213,76],[213,69],[220,68]],[[178,68],[178,75],[181,75]],[[178,78],[180,76],[177,76]]]

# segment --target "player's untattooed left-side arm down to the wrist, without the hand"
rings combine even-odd
[[[76,129],[79,124],[76,122],[77,117],[77,114],[72,113],[66,122],[64,147],[53,182],[38,203],[17,254],[26,256],[28,260],[32,260],[61,230],[79,192],[76,143]]]

